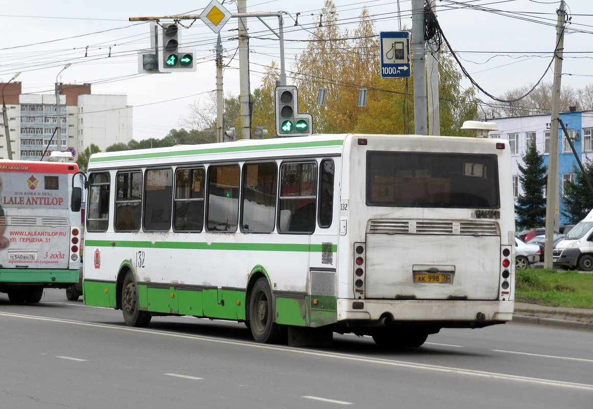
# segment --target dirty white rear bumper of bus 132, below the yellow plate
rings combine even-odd
[[[337,321],[347,325],[431,324],[474,328],[511,321],[514,301],[338,299]],[[364,324],[364,322],[368,324]]]

